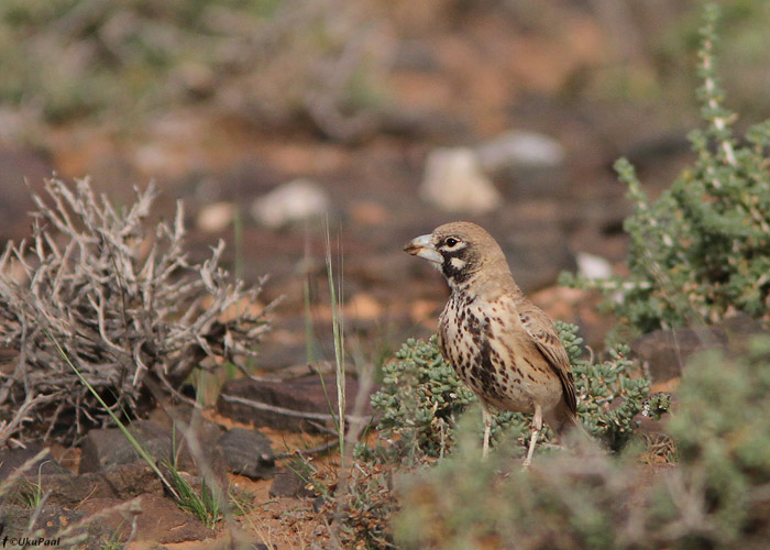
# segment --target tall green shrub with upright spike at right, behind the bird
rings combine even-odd
[[[705,127],[689,136],[693,165],[650,201],[632,166],[619,160],[635,205],[625,221],[630,274],[598,283],[562,276],[568,285],[601,288],[627,332],[713,322],[736,310],[770,324],[770,121],[744,136],[732,130],[736,116],[724,106],[715,69],[716,8],[706,14],[697,92]]]

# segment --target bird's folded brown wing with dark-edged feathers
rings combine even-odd
[[[519,318],[524,329],[546,358],[548,364],[559,375],[564,392],[564,402],[572,413],[578,411],[575,383],[572,377],[570,358],[561,343],[556,327],[546,312],[529,300],[524,300],[518,307]]]

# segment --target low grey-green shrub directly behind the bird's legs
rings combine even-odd
[[[557,330],[572,363],[581,422],[610,449],[619,450],[634,432],[634,417],[649,395],[649,383],[632,376],[627,346],[610,350],[606,361],[585,360],[578,327],[557,322]],[[408,457],[442,455],[453,442],[458,416],[476,400],[441,356],[435,337],[428,342],[408,340],[384,366],[382,389],[372,396],[373,407],[382,415],[377,428],[385,438],[398,436],[398,449]],[[529,425],[529,415],[498,413],[493,440],[506,433],[524,446]],[[481,422],[479,429],[483,429]],[[550,439],[548,430],[542,439]]]

